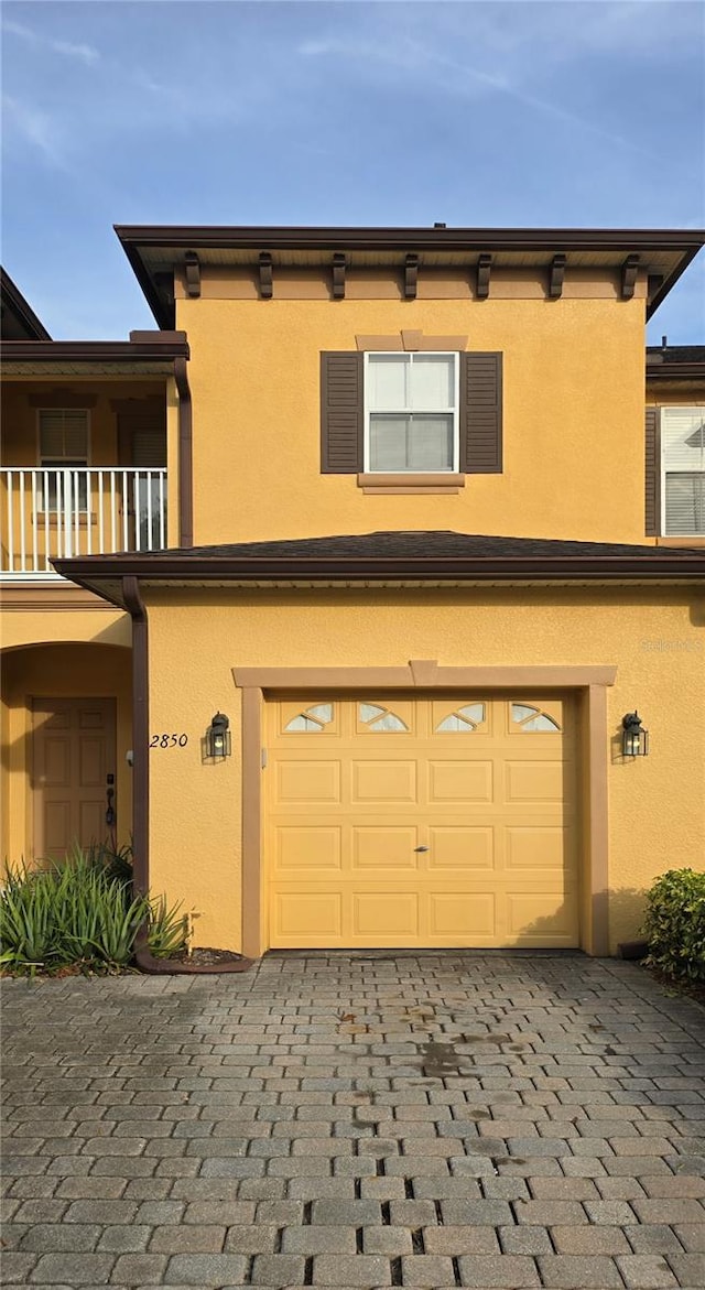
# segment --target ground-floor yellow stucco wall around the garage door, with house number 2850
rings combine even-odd
[[[701,867],[705,838],[705,605],[657,590],[147,592],[151,731],[186,733],[151,752],[151,878],[201,918],[200,944],[241,944],[240,691],[232,667],[616,664],[607,690],[611,946],[635,935],[644,888]],[[669,602],[670,601],[670,602]],[[213,713],[233,756],[201,761]],[[647,759],[619,757],[638,708]],[[264,771],[266,774],[266,771]]]

